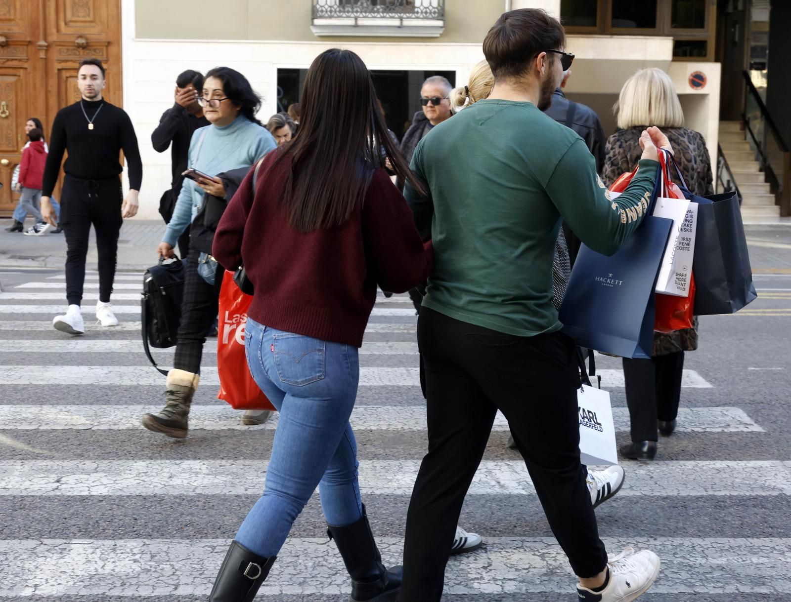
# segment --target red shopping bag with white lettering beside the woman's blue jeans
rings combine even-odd
[[[226,271],[220,288],[220,314],[217,336],[217,371],[220,392],[217,398],[237,410],[274,410],[250,374],[244,356],[244,325],[252,296],[245,295]]]

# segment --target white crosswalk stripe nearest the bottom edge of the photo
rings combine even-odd
[[[603,538],[620,550],[630,540]],[[403,540],[379,537],[385,563],[401,562]],[[6,578],[0,597],[27,596],[208,596],[229,540],[7,540],[0,542]],[[755,600],[788,592],[789,538],[657,537],[650,542],[672,578],[660,580],[652,594],[691,600],[701,594],[753,594]],[[749,559],[749,560],[747,560]],[[334,544],[326,538],[286,541],[256,600],[271,596],[348,596],[349,577]],[[278,568],[282,570],[277,570]],[[529,570],[525,569],[529,567]],[[310,575],[310,578],[302,578]],[[10,576],[10,577],[9,577]],[[722,576],[722,578],[720,578]],[[725,577],[727,576],[727,577]],[[35,579],[35,591],[28,582]],[[493,593],[513,600],[542,600],[541,594],[573,596],[568,560],[551,538],[488,537],[486,547],[462,562],[448,562],[445,593],[468,594],[488,602]],[[301,598],[306,599],[306,598]],[[343,598],[341,598],[343,599]],[[570,599],[570,598],[569,598]],[[713,600],[713,598],[706,598]],[[717,598],[719,599],[719,598]],[[722,600],[728,600],[723,597]]]

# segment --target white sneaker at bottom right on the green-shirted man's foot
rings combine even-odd
[[[607,562],[610,582],[601,592],[577,584],[577,596],[586,602],[630,602],[649,590],[659,575],[659,556],[653,551],[642,550],[628,555],[626,548]],[[634,550],[632,550],[634,552]]]

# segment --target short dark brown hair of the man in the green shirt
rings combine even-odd
[[[539,53],[566,45],[560,21],[541,9],[518,9],[502,13],[483,40],[483,55],[494,79],[523,77]],[[554,53],[550,53],[554,61]]]

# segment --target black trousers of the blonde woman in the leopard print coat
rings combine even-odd
[[[675,420],[681,400],[684,352],[623,359],[633,442],[657,441],[657,420]]]

